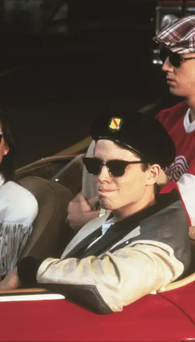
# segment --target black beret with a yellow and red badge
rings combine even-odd
[[[107,112],[95,119],[92,131],[95,141],[108,139],[139,154],[145,162],[162,168],[172,164],[176,148],[163,125],[140,112]]]

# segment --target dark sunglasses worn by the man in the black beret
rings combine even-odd
[[[125,169],[129,164],[140,164],[144,163],[142,160],[135,161],[135,162],[128,162],[126,160],[119,160],[113,159],[109,160],[108,162],[104,163],[99,158],[83,158],[83,163],[86,167],[87,172],[97,176],[100,174],[101,169],[105,165],[108,169],[108,172],[114,177],[121,177],[125,173]]]

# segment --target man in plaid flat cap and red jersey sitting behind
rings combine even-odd
[[[189,223],[195,225],[195,16],[172,21],[154,37],[154,41],[161,48],[162,70],[166,72],[170,92],[186,98],[185,102],[156,115],[176,145],[175,162],[164,170],[169,179],[164,191],[174,187],[179,190]],[[93,155],[94,148],[93,141],[87,156]],[[79,194],[69,207],[68,221],[73,229],[78,230],[87,220],[98,216],[99,211],[92,211],[90,207],[95,194],[90,175],[84,170],[82,195]],[[90,200],[87,202],[85,198]]]

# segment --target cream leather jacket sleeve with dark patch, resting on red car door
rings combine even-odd
[[[170,246],[137,241],[136,245],[99,257],[48,258],[39,267],[37,281],[44,286],[55,284],[67,299],[109,313],[121,311],[123,306],[160,289],[183,270]]]

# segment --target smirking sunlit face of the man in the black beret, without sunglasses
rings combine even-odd
[[[95,148],[95,157],[103,162],[120,159],[138,161],[140,158],[129,150],[119,147],[109,140],[98,140]],[[158,171],[157,171],[158,172]],[[150,185],[151,198],[154,199],[155,177],[151,180],[150,168],[142,171],[141,164],[128,165],[121,177],[112,176],[107,167],[103,166],[97,176],[93,176],[98,192],[100,204],[103,208],[115,211],[128,207],[130,212],[142,209],[148,205],[148,186]],[[150,195],[149,195],[150,197]]]

